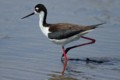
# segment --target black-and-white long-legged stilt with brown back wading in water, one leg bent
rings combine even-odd
[[[92,31],[93,29],[97,28],[101,24],[96,24],[96,25],[90,25],[90,26],[82,26],[82,25],[76,25],[76,24],[69,24],[69,23],[57,23],[57,24],[48,24],[46,22],[47,18],[47,9],[43,4],[37,4],[35,6],[35,11],[25,17],[27,18],[31,15],[38,14],[39,15],[39,26],[42,32],[45,34],[45,36],[52,41],[55,44],[61,45],[62,50],[63,50],[63,55],[65,57],[65,61],[67,63],[68,58],[67,58],[67,52],[75,47],[87,45],[87,44],[92,44],[95,43],[94,39],[84,37],[83,35]],[[67,49],[64,49],[64,46],[67,43],[70,43],[72,41],[78,40],[79,38],[84,38],[88,39],[91,42],[76,45],[69,47]]]

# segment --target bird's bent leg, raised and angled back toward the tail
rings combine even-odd
[[[65,52],[66,52],[65,54],[67,54],[67,52],[68,52],[69,50],[73,49],[73,48],[80,47],[80,46],[85,46],[85,45],[89,45],[89,44],[93,44],[93,43],[96,42],[96,40],[95,40],[95,39],[92,39],[92,38],[88,38],[88,37],[84,37],[84,36],[81,36],[81,38],[90,40],[90,42],[68,47],[68,48],[66,48],[66,50],[65,50]],[[63,56],[64,56],[64,54],[61,56],[61,59],[62,59]]]

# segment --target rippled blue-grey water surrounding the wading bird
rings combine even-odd
[[[46,5],[50,23],[107,22],[86,35],[96,39],[95,44],[68,53],[69,58],[89,57],[107,62],[69,61],[65,75],[61,76],[61,47],[42,34],[38,16],[20,19],[38,3]],[[0,80],[120,80],[119,4],[119,0],[0,1]],[[81,39],[66,47],[85,41]]]

